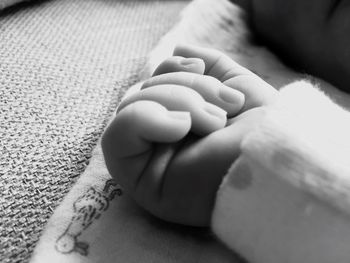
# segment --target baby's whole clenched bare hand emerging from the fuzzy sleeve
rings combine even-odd
[[[178,46],[120,104],[102,139],[107,168],[153,215],[207,226],[242,139],[276,95],[221,52]]]

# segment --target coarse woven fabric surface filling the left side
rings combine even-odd
[[[58,0],[0,14],[0,262],[27,262],[183,1]]]

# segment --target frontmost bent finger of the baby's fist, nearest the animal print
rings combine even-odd
[[[121,110],[102,138],[107,168],[133,191],[139,176],[150,161],[152,143],[173,143],[191,128],[188,112],[168,111],[152,101],[137,101]],[[124,177],[123,175],[128,175]]]

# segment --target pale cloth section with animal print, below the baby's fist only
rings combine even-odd
[[[209,229],[151,216],[111,179],[100,144],[48,221],[31,263],[242,263]]]

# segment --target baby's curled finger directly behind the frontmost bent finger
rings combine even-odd
[[[156,85],[127,97],[118,111],[141,100],[150,100],[163,105],[170,111],[186,111],[191,115],[191,131],[197,135],[207,135],[225,127],[227,112],[211,104],[193,89],[179,85]]]

